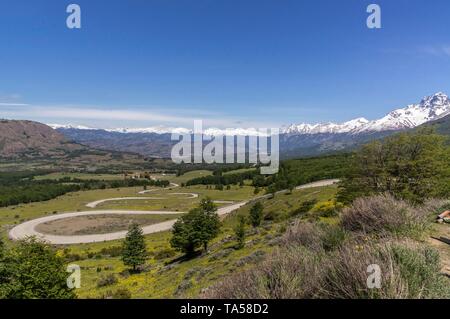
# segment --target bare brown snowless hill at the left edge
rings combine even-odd
[[[151,165],[138,154],[95,149],[73,142],[45,124],[18,120],[0,120],[0,161],[18,169],[89,171]]]

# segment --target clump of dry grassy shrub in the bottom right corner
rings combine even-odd
[[[409,242],[344,245],[329,258],[320,296],[324,298],[449,298],[437,252]],[[381,288],[367,287],[367,267],[381,269]]]

